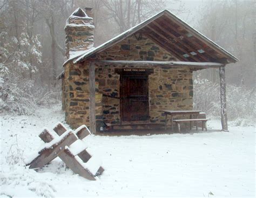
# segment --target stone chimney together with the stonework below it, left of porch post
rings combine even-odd
[[[72,58],[80,51],[93,47],[93,18],[78,8],[66,21],[66,57]],[[82,123],[89,126],[89,77],[83,65],[73,65],[72,61],[65,65],[62,79],[62,105],[68,124],[76,128]]]

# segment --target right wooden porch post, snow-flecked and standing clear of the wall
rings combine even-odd
[[[226,80],[225,80],[225,66],[220,66],[220,114],[221,126],[223,131],[227,129],[227,106],[226,106]]]

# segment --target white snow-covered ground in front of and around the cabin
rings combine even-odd
[[[208,121],[207,133],[86,138],[103,161],[97,181],[73,174],[60,159],[36,172],[24,159],[42,146],[43,127],[64,122],[59,106],[34,116],[0,115],[1,197],[254,197],[255,128]],[[215,131],[214,131],[215,130]]]

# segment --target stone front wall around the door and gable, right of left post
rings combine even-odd
[[[97,59],[178,61],[172,54],[144,35],[140,40],[135,36],[124,39],[119,44],[97,54]],[[120,124],[120,76],[114,72],[114,69],[125,67],[154,70],[154,73],[149,76],[150,122],[158,124],[164,122],[161,110],[192,110],[192,71],[187,67],[98,65],[99,92],[103,93],[104,122]]]

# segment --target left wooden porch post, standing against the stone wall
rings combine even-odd
[[[92,134],[96,133],[96,118],[95,118],[95,64],[89,65],[89,85],[90,85],[90,131]]]

